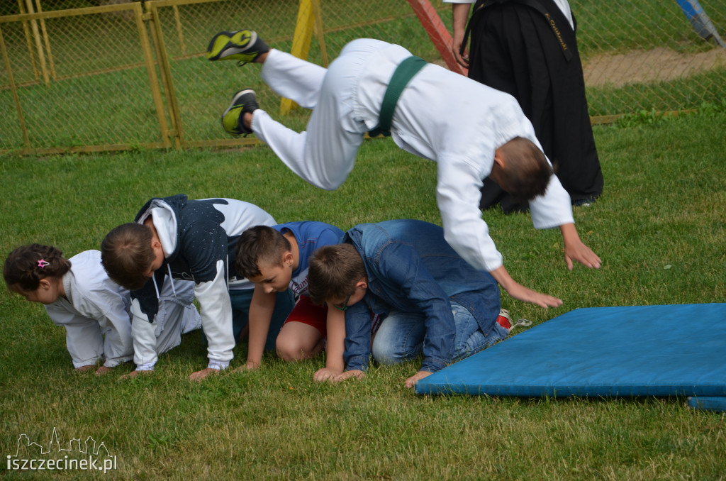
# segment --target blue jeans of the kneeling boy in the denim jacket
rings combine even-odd
[[[454,361],[476,354],[497,341],[507,339],[509,333],[495,322],[489,336],[479,328],[476,318],[461,304],[451,302],[456,337]],[[380,364],[391,365],[413,359],[423,352],[426,335],[425,316],[420,313],[391,311],[381,323],[373,340],[372,355]]]

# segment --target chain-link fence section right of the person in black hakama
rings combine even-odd
[[[720,36],[701,38],[686,0],[571,0],[591,116],[726,100],[726,3],[700,0]],[[708,36],[702,33],[703,36]]]

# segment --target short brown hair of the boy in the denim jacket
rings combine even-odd
[[[323,246],[308,262],[308,295],[314,304],[346,299],[366,275],[363,258],[348,243]]]

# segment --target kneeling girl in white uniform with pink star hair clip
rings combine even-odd
[[[12,251],[3,277],[10,291],[45,304],[54,324],[65,327],[65,342],[76,371],[109,372],[134,358],[131,341],[131,295],[108,278],[99,251],[70,259],[53,246],[30,244]],[[159,299],[157,352],[179,345],[181,334],[201,326],[194,284],[165,283]],[[96,368],[104,359],[103,365]],[[139,360],[136,360],[139,363]]]

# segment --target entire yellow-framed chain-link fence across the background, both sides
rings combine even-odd
[[[677,0],[570,3],[595,121],[725,99],[726,49],[701,38]],[[701,6],[726,33],[723,1]],[[223,30],[253,28],[271,47],[320,65],[348,41],[372,37],[454,67],[451,6],[440,0],[18,0],[1,8],[1,151],[244,145],[255,140],[229,137],[219,124],[243,88],[303,129],[309,113],[274,95],[258,65],[205,59]]]

